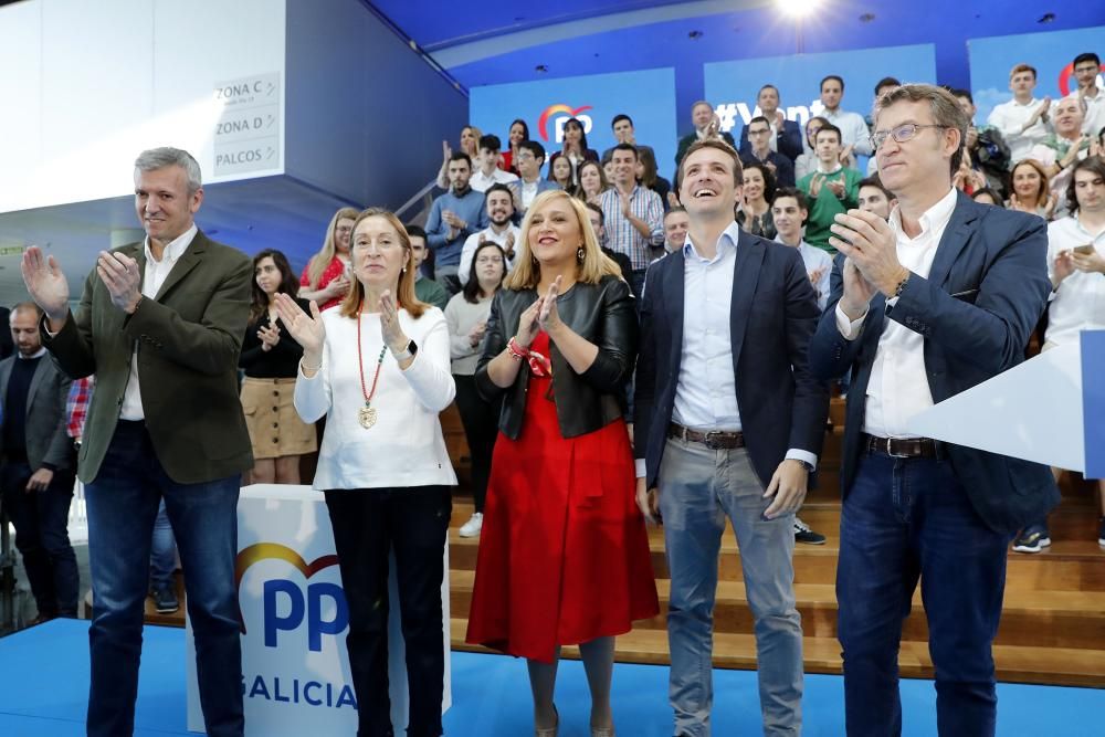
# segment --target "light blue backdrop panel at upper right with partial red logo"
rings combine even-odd
[[[978,114],[975,119],[985,123],[994,105],[1009,102],[1009,70],[1017,64],[1031,64],[1036,69],[1035,96],[1051,95],[1059,99],[1078,88],[1072,74],[1074,57],[1084,51],[1105,54],[1105,27],[1084,28],[1076,31],[1023,33],[989,39],[970,39],[970,90]],[[1101,77],[1097,86],[1101,86]]]

